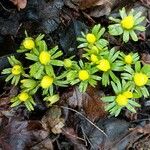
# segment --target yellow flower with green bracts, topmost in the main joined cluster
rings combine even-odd
[[[81,42],[78,48],[88,48],[90,50],[94,48],[97,50],[104,49],[108,45],[108,41],[101,38],[104,32],[105,28],[101,28],[100,24],[95,25],[89,33],[81,32],[82,37],[77,38]]]

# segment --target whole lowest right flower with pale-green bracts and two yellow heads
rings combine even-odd
[[[115,96],[106,96],[102,100],[107,103],[106,110],[111,115],[118,116],[121,110],[125,107],[131,112],[135,113],[134,107],[140,107],[140,105],[134,100],[134,93],[130,90],[130,84],[122,80],[122,84],[118,81],[116,84],[111,82]]]

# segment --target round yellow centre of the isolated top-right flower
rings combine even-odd
[[[121,26],[124,29],[130,30],[134,26],[134,17],[133,16],[127,16],[121,21]]]

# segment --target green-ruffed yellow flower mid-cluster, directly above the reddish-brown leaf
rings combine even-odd
[[[89,84],[95,87],[97,81],[101,80],[101,77],[95,75],[97,71],[96,67],[80,60],[79,66],[76,65],[76,68],[67,72],[67,81],[71,85],[79,83],[80,92],[85,92]]]

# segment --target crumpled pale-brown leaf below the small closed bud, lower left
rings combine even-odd
[[[61,109],[57,106],[51,107],[42,118],[42,126],[45,130],[59,134],[64,126],[64,119],[61,117]]]

